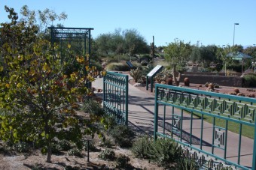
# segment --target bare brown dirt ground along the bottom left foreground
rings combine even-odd
[[[155,163],[148,163],[148,160],[139,160],[133,157],[131,151],[121,148],[115,148],[116,155],[125,154],[130,157],[130,164],[134,169],[162,169]],[[46,163],[46,156],[38,152],[30,155],[3,155],[0,154],[0,169],[2,170],[27,170],[27,169],[114,169],[114,161],[99,160],[99,152],[90,152],[90,162],[87,162],[87,155],[83,158],[69,156],[67,154],[53,155],[52,163]]]

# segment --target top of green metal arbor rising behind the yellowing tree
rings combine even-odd
[[[91,35],[90,31],[93,28],[66,28],[66,27],[48,27],[50,29],[50,41],[51,43],[60,43],[61,50],[63,46],[68,44],[75,44],[78,51],[86,57],[91,54]]]

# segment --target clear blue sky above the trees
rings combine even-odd
[[[0,22],[8,21],[4,6],[17,12],[27,4],[30,10],[49,8],[66,12],[66,27],[94,28],[99,34],[116,28],[135,28],[148,43],[154,35],[156,46],[165,46],[175,38],[203,46],[256,44],[255,0],[0,0]]]

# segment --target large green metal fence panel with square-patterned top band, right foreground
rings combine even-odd
[[[255,136],[255,112],[255,98],[157,84],[154,139],[174,139],[184,147],[184,157],[206,168],[256,169],[255,137],[242,135],[247,129]],[[250,151],[245,145],[251,145]]]

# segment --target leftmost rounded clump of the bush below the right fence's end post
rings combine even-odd
[[[150,159],[151,158],[151,150],[152,143],[154,139],[149,136],[141,136],[133,142],[132,152],[135,157]]]

